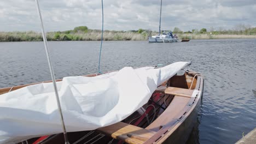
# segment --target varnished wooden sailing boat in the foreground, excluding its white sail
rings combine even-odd
[[[28,85],[34,84],[36,83]],[[0,94],[28,85],[1,88]],[[188,140],[188,136],[196,123],[202,93],[203,76],[194,71],[185,70],[183,75],[174,75],[162,83],[148,103],[143,106],[144,111],[136,111],[122,122],[107,127],[93,131],[68,133],[69,142],[75,144],[184,143]],[[33,144],[64,143],[64,139],[63,134],[56,134],[35,137],[26,142]]]

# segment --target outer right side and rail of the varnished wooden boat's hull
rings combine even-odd
[[[196,97],[189,100],[184,109],[179,112],[178,117],[176,117],[177,119],[170,118],[167,120],[169,122],[166,125],[170,124],[170,127],[165,130],[163,135],[158,137],[159,140],[155,141],[155,143],[185,143],[188,140],[193,127],[196,125],[197,112],[199,110],[203,94],[202,76],[197,77],[195,89],[197,89],[200,94],[194,94]],[[182,115],[183,112],[185,114]],[[154,140],[148,142],[153,143],[153,141]]]

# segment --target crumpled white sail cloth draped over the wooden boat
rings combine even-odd
[[[96,77],[63,78],[57,88],[67,131],[94,130],[122,121],[146,104],[157,86],[187,65],[125,67]],[[53,83],[0,95],[0,143],[57,133],[62,133],[62,127]]]

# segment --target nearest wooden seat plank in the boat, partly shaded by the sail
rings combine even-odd
[[[123,140],[127,143],[144,143],[156,132],[139,128],[131,124],[118,122],[107,127],[97,129],[98,132],[109,135],[114,139]]]

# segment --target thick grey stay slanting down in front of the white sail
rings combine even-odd
[[[46,56],[47,56],[47,59],[48,59],[48,65],[49,65],[49,68],[50,68],[51,80],[53,81],[55,97],[56,97],[58,110],[59,110],[60,117],[61,117],[63,135],[64,135],[65,143],[69,144],[65,123],[64,123],[63,116],[62,116],[59,94],[58,94],[58,91],[57,91],[57,86],[56,86],[56,81],[55,81],[54,69],[53,69],[53,65],[51,63],[51,58],[50,58],[49,49],[48,49],[48,43],[47,43],[46,35],[45,35],[45,32],[44,32],[44,25],[43,25],[42,15],[41,15],[41,12],[40,12],[40,7],[39,7],[38,0],[35,0],[35,1],[36,1],[36,5],[37,5],[37,12],[38,12],[40,23],[41,23],[42,36],[43,36],[43,40],[44,40],[44,48],[45,48],[45,53],[46,53]]]

